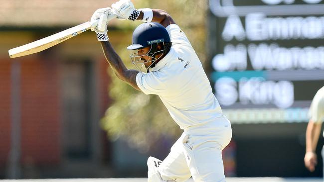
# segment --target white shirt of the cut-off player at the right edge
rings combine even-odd
[[[315,94],[309,110],[309,116],[313,122],[324,121],[324,87]]]

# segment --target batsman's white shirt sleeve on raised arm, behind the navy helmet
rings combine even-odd
[[[177,24],[170,24],[165,29],[169,33],[172,46],[176,44],[186,44],[192,47],[188,38],[185,36],[184,32],[180,29],[180,27]]]

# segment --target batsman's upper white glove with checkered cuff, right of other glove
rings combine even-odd
[[[134,7],[131,0],[119,0],[111,5],[117,18],[120,20],[133,20],[135,21],[140,14],[140,11]]]

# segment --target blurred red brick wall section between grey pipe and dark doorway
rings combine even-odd
[[[57,163],[60,159],[60,98],[58,63],[21,63],[22,163]]]

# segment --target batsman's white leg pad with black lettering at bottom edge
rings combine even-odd
[[[162,180],[158,168],[160,167],[162,161],[155,158],[149,157],[148,159],[148,182],[175,182],[173,180]]]

